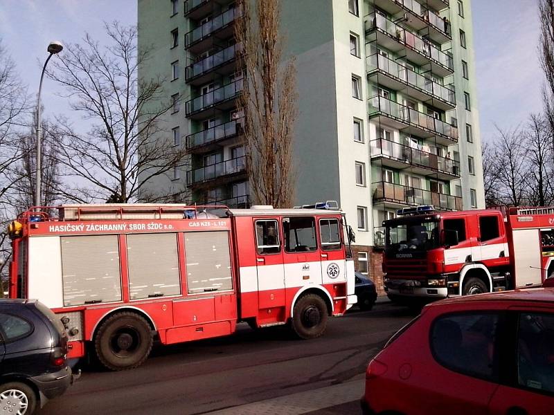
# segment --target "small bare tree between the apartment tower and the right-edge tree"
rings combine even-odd
[[[498,174],[499,200],[509,206],[526,204],[526,172],[528,149],[520,127],[502,130],[494,144],[494,159]]]

